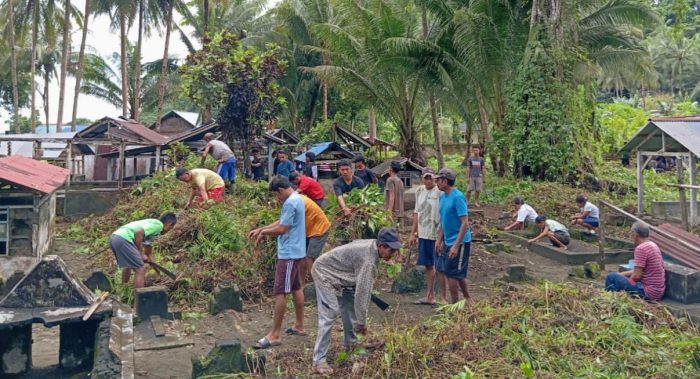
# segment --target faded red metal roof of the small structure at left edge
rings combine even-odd
[[[0,181],[51,193],[63,185],[68,170],[21,155],[0,158]]]

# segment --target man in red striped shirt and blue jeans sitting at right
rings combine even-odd
[[[661,300],[666,291],[666,271],[659,246],[649,240],[649,225],[637,221],[630,236],[634,248],[634,269],[622,273],[609,272],[605,289],[625,291],[646,300]]]

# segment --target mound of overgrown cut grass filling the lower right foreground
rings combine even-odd
[[[381,336],[381,339],[380,339]],[[386,328],[361,372],[390,377],[679,377],[700,370],[700,336],[664,307],[624,293],[543,282],[410,328]]]

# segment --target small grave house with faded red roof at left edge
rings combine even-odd
[[[56,191],[68,174],[21,155],[0,158],[0,276],[26,272],[51,250]]]

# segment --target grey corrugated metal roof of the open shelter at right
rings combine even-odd
[[[662,137],[664,133],[666,136]],[[649,119],[649,122],[639,129],[620,151],[660,151],[664,140],[666,152],[691,152],[700,156],[700,117]]]

